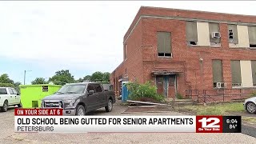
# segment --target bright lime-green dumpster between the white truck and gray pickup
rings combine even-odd
[[[54,94],[62,86],[42,85],[20,85],[21,101],[23,108],[34,108],[41,106],[42,98]]]

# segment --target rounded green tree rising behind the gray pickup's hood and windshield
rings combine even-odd
[[[52,78],[49,78],[49,82],[54,82],[56,85],[65,85],[66,83],[72,83],[74,81],[74,76],[70,74],[69,70],[59,70],[55,72]]]

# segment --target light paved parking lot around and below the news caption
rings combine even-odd
[[[104,109],[90,115],[121,115],[126,106],[115,105],[111,113]],[[184,115],[169,113],[136,113],[123,115]],[[255,132],[256,133],[256,132]],[[14,133],[14,109],[0,113],[0,143],[255,143],[246,134],[18,134]]]

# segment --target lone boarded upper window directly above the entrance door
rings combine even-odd
[[[158,56],[171,57],[170,33],[158,32]]]

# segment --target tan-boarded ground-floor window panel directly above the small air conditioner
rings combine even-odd
[[[214,82],[222,82],[222,60],[213,60]]]

